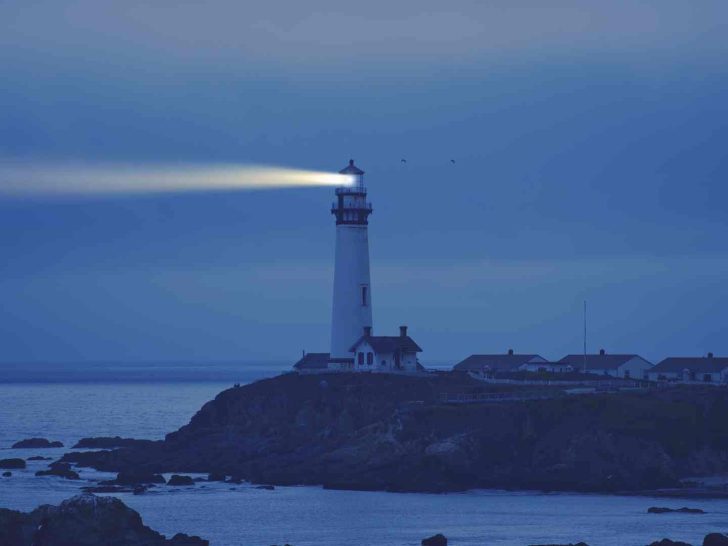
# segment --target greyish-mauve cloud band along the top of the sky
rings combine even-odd
[[[653,58],[681,49],[725,50],[725,3],[616,0],[434,0],[365,5],[329,0],[249,3],[6,1],[5,62],[34,57],[127,67],[231,71],[256,63],[290,68],[338,63],[440,63],[608,52]],[[11,52],[9,54],[9,52]]]

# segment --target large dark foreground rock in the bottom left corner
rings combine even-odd
[[[208,546],[199,537],[172,539],[145,526],[137,512],[114,497],[83,494],[30,513],[0,509],[3,546]]]

